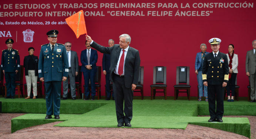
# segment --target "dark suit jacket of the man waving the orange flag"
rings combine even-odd
[[[115,44],[112,47],[104,47],[93,41],[91,47],[102,53],[110,54],[110,79],[113,81],[112,73],[117,67],[118,58],[121,52],[120,45]],[[124,63],[124,83],[126,88],[131,88],[132,84],[138,84],[140,62],[139,51],[129,47]]]

